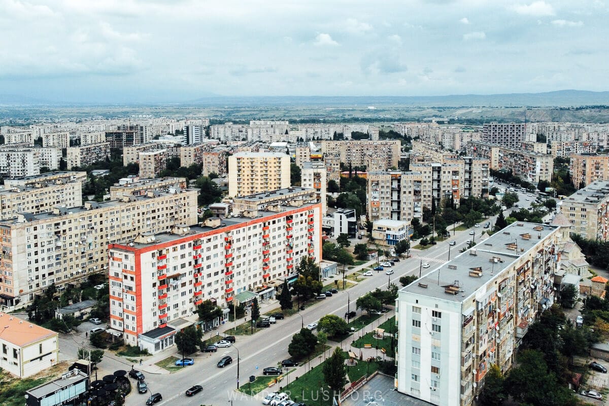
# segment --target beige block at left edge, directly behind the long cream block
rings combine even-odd
[[[82,206],[82,183],[57,180],[32,186],[0,186],[0,219],[14,219],[19,213],[46,213],[58,205]]]

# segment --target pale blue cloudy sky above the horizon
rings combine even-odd
[[[606,91],[607,21],[609,0],[0,0],[0,94]]]

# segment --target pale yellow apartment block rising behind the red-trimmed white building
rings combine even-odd
[[[228,195],[247,196],[290,186],[290,157],[280,152],[240,152],[228,157]]]

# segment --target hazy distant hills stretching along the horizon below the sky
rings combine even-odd
[[[0,94],[4,106],[139,105],[144,103],[68,103],[15,94]],[[150,105],[201,107],[580,107],[609,105],[609,91],[559,90],[545,93],[453,94],[449,96],[205,96],[183,102]]]

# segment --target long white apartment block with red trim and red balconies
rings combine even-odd
[[[110,328],[155,353],[197,321],[203,301],[223,309],[207,330],[228,317],[229,304],[274,297],[297,278],[302,258],[321,260],[322,245],[319,203],[275,208],[111,244]]]

